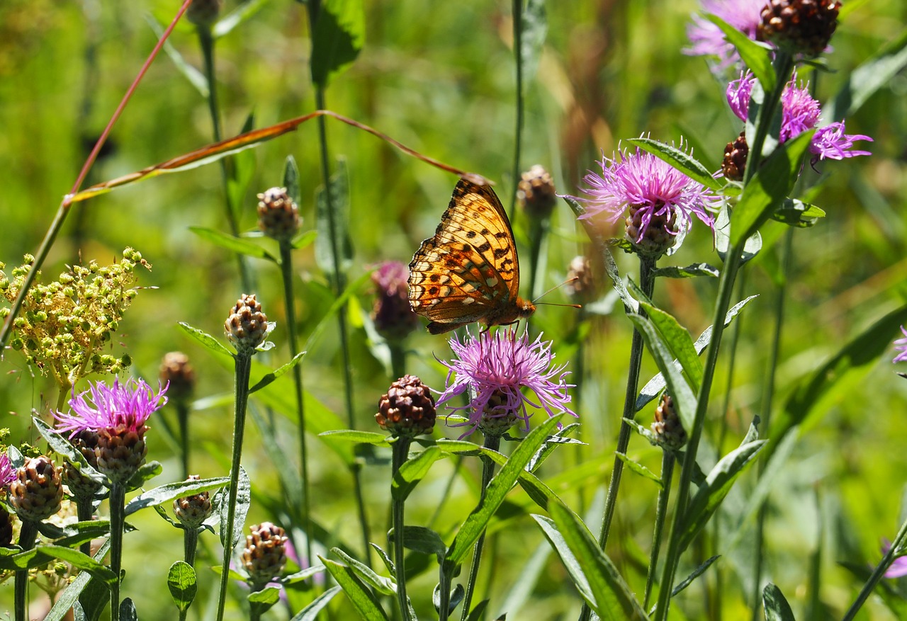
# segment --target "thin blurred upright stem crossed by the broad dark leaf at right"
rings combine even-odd
[[[768,354],[768,368],[766,369],[766,386],[762,395],[762,408],[759,412],[762,421],[762,428],[768,432],[771,425],[772,401],[775,397],[775,369],[778,367],[778,357],[781,351],[781,331],[784,327],[785,319],[785,297],[787,296],[787,276],[790,267],[791,252],[794,240],[794,228],[788,228],[785,233],[785,243],[781,249],[781,274],[782,282],[775,292],[775,331],[772,334],[771,349]],[[756,464],[759,474],[762,474],[763,463],[760,461]],[[756,517],[756,541],[753,544],[753,621],[759,621],[760,602],[762,601],[762,566],[763,546],[765,544],[766,517],[768,513],[768,500],[763,500],[759,505],[759,512]]]

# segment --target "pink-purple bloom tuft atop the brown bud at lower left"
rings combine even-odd
[[[86,430],[99,432],[120,426],[126,431],[142,432],[151,414],[167,403],[164,393],[168,386],[159,387],[154,393],[144,380],[130,379],[121,384],[119,378],[114,378],[112,386],[89,383],[88,390],[69,400],[72,414],[54,412],[57,430],[70,432],[70,438]]]

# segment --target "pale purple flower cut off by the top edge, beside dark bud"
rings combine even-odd
[[[762,7],[766,0],[702,0],[705,13],[717,15],[750,39],[756,40],[756,26],[762,22]],[[716,24],[702,15],[692,15],[693,23],[687,26],[690,46],[683,50],[688,56],[717,56],[713,73],[722,73],[740,60],[736,48],[727,42],[725,34]]]

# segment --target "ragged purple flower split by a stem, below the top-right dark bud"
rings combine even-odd
[[[727,85],[727,103],[741,121],[746,121],[749,113],[749,98],[756,78],[752,73],[741,73],[738,80]],[[809,94],[809,83],[797,84],[796,75],[785,85],[781,93],[781,131],[778,136],[781,143],[812,130],[819,124],[822,108]],[[809,151],[813,154],[810,163],[819,160],[843,160],[857,155],[872,155],[868,150],[853,150],[853,141],[870,141],[873,139],[863,134],[845,134],[844,121],[831,123],[816,131]]]

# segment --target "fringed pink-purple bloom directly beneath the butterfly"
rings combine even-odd
[[[549,416],[561,412],[577,416],[567,406],[571,403],[567,389],[575,386],[565,379],[570,374],[564,371],[567,365],[552,364],[551,341],[542,342],[541,335],[530,343],[528,334],[518,337],[510,329],[495,332],[494,335],[485,331],[477,337],[467,331],[463,342],[453,336],[450,344],[456,358],[449,363],[441,363],[449,372],[447,387],[438,399],[438,406],[472,389],[468,405],[447,406],[454,412],[466,411],[468,414],[468,421],[453,425],[469,425],[469,431],[463,433],[461,438],[474,432],[483,418],[511,415],[522,419],[526,423],[525,431],[529,431],[527,404],[543,409]],[[534,394],[535,401],[523,393],[523,388]],[[494,402],[500,404],[489,407],[493,397]]]

